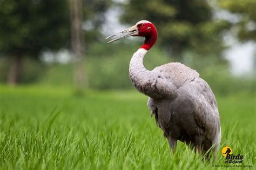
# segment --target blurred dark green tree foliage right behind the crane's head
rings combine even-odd
[[[213,53],[221,56],[223,32],[230,29],[224,20],[213,19],[213,8],[200,0],[130,0],[122,16],[124,23],[136,23],[144,18],[156,25],[159,44],[171,57],[180,60],[183,52]]]

